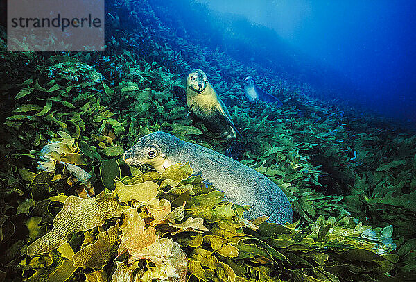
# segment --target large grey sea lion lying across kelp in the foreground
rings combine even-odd
[[[128,165],[150,165],[162,173],[176,163],[190,163],[194,174],[201,174],[208,183],[225,192],[225,199],[239,205],[250,205],[246,219],[262,215],[270,222],[293,222],[288,198],[273,181],[232,158],[175,136],[157,131],[145,135],[123,154]]]

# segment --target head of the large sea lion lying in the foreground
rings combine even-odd
[[[124,152],[123,160],[133,167],[153,167],[162,173],[167,167],[174,165],[175,152],[180,149],[179,138],[157,131],[144,135],[137,140],[136,144]]]

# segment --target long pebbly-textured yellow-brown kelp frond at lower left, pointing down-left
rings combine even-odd
[[[112,217],[121,217],[122,210],[123,206],[113,193],[101,192],[90,199],[70,196],[53,219],[51,232],[29,245],[28,255],[46,254],[67,242],[76,232],[102,226]]]

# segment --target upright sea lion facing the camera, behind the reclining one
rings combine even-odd
[[[227,107],[216,94],[207,75],[200,69],[193,69],[187,78],[187,105],[189,110],[207,126],[225,140],[236,139],[236,129]]]

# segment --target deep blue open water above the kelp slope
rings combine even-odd
[[[212,21],[229,23],[230,14],[240,15],[275,31],[306,81],[334,88],[342,85],[345,101],[403,122],[416,122],[416,1],[198,2],[219,12]],[[218,33],[241,33],[243,38],[252,36],[269,48],[281,49],[272,38],[245,34],[248,29],[235,28],[235,23],[232,31],[225,24]],[[248,60],[253,60],[250,50],[246,51]],[[263,55],[270,57],[270,52]],[[306,71],[302,62],[308,65]]]

